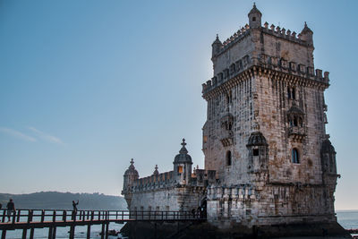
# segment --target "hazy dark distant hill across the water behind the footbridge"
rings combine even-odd
[[[72,209],[72,201],[79,200],[78,209],[127,209],[123,197],[99,193],[35,192],[30,194],[0,193],[3,209],[13,199],[16,209]]]

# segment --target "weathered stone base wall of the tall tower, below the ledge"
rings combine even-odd
[[[335,222],[333,204],[328,203],[326,191],[324,184],[209,185],[208,220],[221,227],[229,227],[230,222],[249,227]]]

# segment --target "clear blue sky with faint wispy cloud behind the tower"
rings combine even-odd
[[[141,176],[173,170],[183,138],[202,168],[211,43],[243,27],[252,4],[0,0],[0,192],[120,195],[131,158]],[[336,209],[358,209],[358,2],[256,5],[262,22],[313,30],[315,67],[330,72]]]

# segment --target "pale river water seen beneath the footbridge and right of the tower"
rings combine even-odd
[[[358,210],[341,210],[337,211],[337,220],[338,223],[343,226],[345,229],[358,229]],[[111,223],[109,225],[110,230],[119,231],[124,225]],[[101,225],[93,225],[90,227],[90,238],[100,238],[99,233],[101,232]],[[56,238],[68,238],[70,227],[57,227],[56,229]],[[76,226],[74,237],[75,238],[86,238],[87,226]],[[22,235],[22,230],[7,231],[6,238],[11,239],[20,239]],[[30,230],[28,230],[28,237],[30,235]],[[48,229],[35,229],[34,238],[45,239],[48,236]],[[122,235],[118,236],[109,236],[111,239],[121,238]]]

